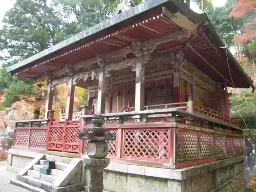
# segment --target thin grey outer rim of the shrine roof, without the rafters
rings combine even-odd
[[[73,37],[63,40],[63,41],[59,42],[58,44],[56,44],[55,46],[52,46],[40,53],[37,53],[36,55],[33,55],[23,61],[20,61],[19,63],[15,64],[13,66],[9,66],[6,68],[6,70],[7,70],[7,72],[11,72],[11,74],[15,74],[17,69],[24,68],[25,66],[29,65],[32,62],[35,62],[38,59],[42,59],[43,57],[46,57],[56,51],[60,51],[61,49],[64,49],[65,47],[70,46],[71,44],[74,44],[74,43],[80,41],[81,39],[89,37],[95,33],[98,33],[100,31],[106,29],[106,28],[117,25],[118,23],[124,22],[127,19],[131,19],[132,17],[142,14],[145,11],[151,10],[153,8],[161,6],[162,4],[166,4],[168,2],[175,4],[183,14],[187,15],[188,18],[190,18],[194,22],[196,22],[198,24],[204,24],[207,22],[208,24],[205,26],[205,29],[210,33],[210,36],[216,41],[215,45],[217,46],[217,49],[220,51],[220,47],[225,47],[224,42],[221,40],[220,36],[215,31],[214,27],[211,25],[210,19],[208,18],[206,13],[202,13],[202,14],[196,13],[193,10],[191,10],[183,1],[180,1],[180,0],[158,0],[158,1],[148,0],[145,3],[142,3],[136,7],[133,7],[125,12],[122,12],[122,13],[116,15],[108,20],[105,20],[104,22],[101,22],[87,30],[84,30],[84,31],[74,35]],[[223,54],[223,52],[222,52],[222,54]],[[234,56],[231,54],[231,52],[228,49],[227,49],[227,54],[228,54],[228,58],[230,58],[229,63],[232,66],[234,66],[234,68],[236,68],[239,72],[241,72],[243,78],[248,83],[248,87],[252,87],[253,81],[246,74],[246,72],[242,69],[242,67],[240,66],[238,61],[234,58]],[[225,55],[223,55],[223,56],[225,56]]]

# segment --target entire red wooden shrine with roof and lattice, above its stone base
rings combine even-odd
[[[114,159],[179,168],[242,155],[227,87],[254,89],[252,80],[206,14],[180,2],[148,1],[7,67],[48,83],[45,119],[16,121],[13,148],[84,154],[77,134],[101,113],[117,136],[109,142]],[[52,102],[60,83],[68,97],[59,120]],[[89,90],[78,119],[75,86]]]

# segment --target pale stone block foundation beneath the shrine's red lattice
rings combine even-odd
[[[85,158],[78,154],[46,151],[46,154],[49,153],[69,158]],[[10,150],[8,170],[18,172],[37,156],[38,153],[34,152]],[[116,163],[113,160],[105,168],[104,191],[212,192],[240,176],[243,170],[243,156],[182,169],[131,165],[121,163],[121,161]],[[77,181],[77,184],[81,183],[85,191],[88,190],[88,172],[86,164],[83,163],[82,177],[80,181]]]

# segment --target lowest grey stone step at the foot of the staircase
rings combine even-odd
[[[82,190],[81,184],[67,185],[66,187],[55,187],[52,185],[52,183],[35,179],[31,176],[17,175],[17,180],[34,187],[44,189],[48,192],[67,192],[67,191],[78,192]],[[38,192],[43,192],[43,191],[38,191]]]

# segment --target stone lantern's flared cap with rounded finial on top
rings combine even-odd
[[[111,133],[109,129],[102,127],[104,123],[102,114],[95,114],[92,118],[92,126],[87,127],[85,132],[78,134],[81,140],[96,140],[96,141],[113,141],[116,135]]]

